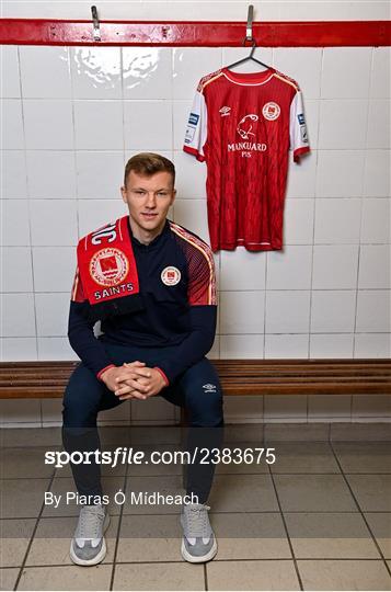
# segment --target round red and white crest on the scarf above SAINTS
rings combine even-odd
[[[101,286],[115,286],[129,271],[129,262],[119,249],[107,247],[93,255],[90,261],[90,275]]]

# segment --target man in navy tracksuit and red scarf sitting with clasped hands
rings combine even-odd
[[[166,158],[137,155],[125,168],[122,195],[129,215],[79,241],[68,337],[81,363],[64,397],[65,448],[100,449],[96,417],[125,400],[161,395],[184,407],[189,419],[187,451],[219,447],[222,396],[205,357],[216,331],[216,278],[209,247],[166,219],[175,198],[175,169]],[[94,337],[94,323],[102,332]],[[100,466],[71,464],[80,511],[71,540],[72,561],[91,566],[106,554],[108,514],[102,501]],[[214,463],[188,465],[183,505],[182,556],[211,559],[217,543],[206,505]],[[131,485],[131,483],[130,483]]]

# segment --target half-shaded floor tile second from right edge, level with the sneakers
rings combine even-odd
[[[363,516],[357,513],[285,513],[296,558],[380,559]]]

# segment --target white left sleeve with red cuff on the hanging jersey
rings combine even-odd
[[[204,146],[207,138],[207,109],[203,87],[199,83],[188,116],[183,149],[185,152],[195,156],[200,162],[205,161]]]

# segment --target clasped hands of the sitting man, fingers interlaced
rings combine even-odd
[[[106,369],[102,380],[122,401],[126,399],[148,399],[158,395],[165,382],[159,371],[147,367],[145,362],[125,363]]]

